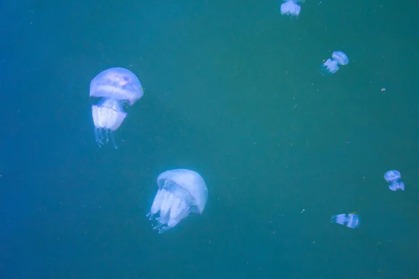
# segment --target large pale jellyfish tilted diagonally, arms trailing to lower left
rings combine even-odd
[[[157,177],[156,197],[147,217],[153,220],[159,213],[159,222],[153,229],[159,234],[175,227],[189,213],[203,213],[208,199],[208,188],[198,172],[189,169],[172,169]]]

